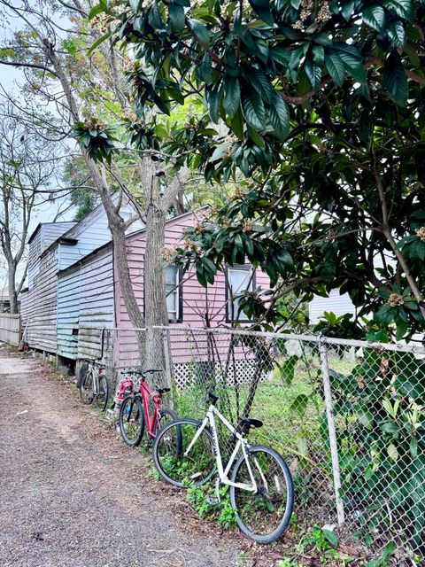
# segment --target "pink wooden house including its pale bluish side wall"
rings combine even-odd
[[[197,214],[187,213],[166,221],[166,246],[173,246],[182,232],[193,226]],[[146,233],[140,229],[127,237],[128,264],[135,296],[144,311],[144,252]],[[225,360],[228,336],[217,336],[214,344],[197,329],[231,326],[237,314],[239,291],[269,287],[268,277],[250,265],[228,267],[206,289],[196,277],[182,276],[175,266],[165,266],[167,310],[174,369],[187,369],[189,361]],[[180,284],[180,285],[179,285]],[[243,316],[239,315],[243,322]],[[102,333],[102,330],[108,330]],[[139,364],[135,330],[128,318],[114,268],[112,243],[106,243],[58,272],[58,356],[78,361],[97,358],[104,351],[115,367]],[[143,332],[143,331],[140,331]],[[249,357],[249,349],[237,346],[238,360]],[[186,372],[186,370],[184,370]]]

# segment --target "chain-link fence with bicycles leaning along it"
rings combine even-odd
[[[172,386],[179,416],[205,416],[213,389],[230,422],[260,419],[250,441],[289,463],[298,524],[338,524],[376,552],[394,541],[399,562],[423,564],[423,347],[179,327],[110,330],[108,344],[116,373],[164,369],[151,386]]]

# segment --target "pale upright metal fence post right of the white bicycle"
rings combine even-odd
[[[334,412],[332,408],[332,392],[330,389],[329,380],[329,365],[328,365],[328,349],[326,340],[321,335],[319,337],[319,352],[321,354],[321,375],[323,377],[323,389],[325,392],[326,416],[328,417],[328,434],[330,444],[330,454],[332,458],[332,474],[334,477],[334,488],[336,496],[336,516],[338,518],[338,525],[343,525],[344,517],[344,501],[341,498],[341,474],[339,470],[338,458],[338,445],[336,442],[336,429]]]

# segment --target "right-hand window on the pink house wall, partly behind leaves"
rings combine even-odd
[[[228,266],[226,269],[226,321],[249,322],[250,319],[239,312],[237,294],[252,291],[255,288],[255,270],[250,264]]]

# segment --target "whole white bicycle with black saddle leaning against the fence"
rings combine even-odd
[[[204,485],[215,475],[216,498],[210,500],[219,502],[220,484],[228,485],[230,503],[241,531],[259,543],[277,540],[290,523],[294,506],[288,465],[272,447],[251,446],[245,439],[250,429],[261,427],[262,422],[239,417],[235,428],[215,407],[218,397],[210,392],[209,398],[211,405],[202,422],[178,419],[158,432],[153,446],[155,466],[166,482],[182,488]],[[235,441],[225,468],[216,417]],[[240,451],[242,454],[236,461]]]

